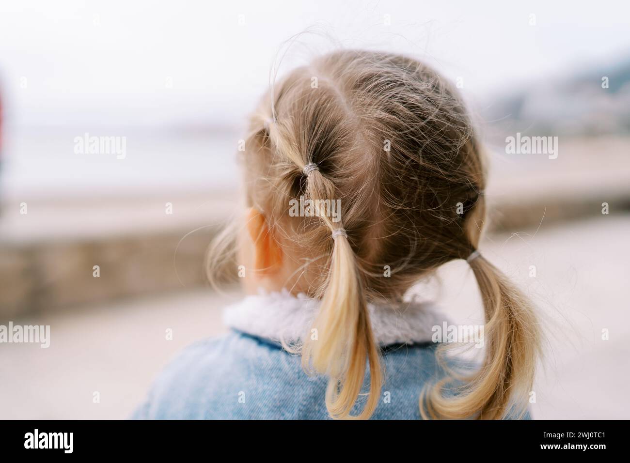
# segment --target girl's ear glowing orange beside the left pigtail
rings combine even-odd
[[[273,275],[282,266],[282,249],[273,239],[267,219],[260,210],[251,208],[247,218],[247,229],[253,244],[253,263],[260,275]]]

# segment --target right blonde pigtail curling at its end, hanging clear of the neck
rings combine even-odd
[[[476,252],[476,251],[475,251]],[[482,420],[525,413],[527,394],[536,370],[539,328],[530,302],[494,265],[483,256],[469,259],[481,299],[486,324],[483,366],[461,387],[455,396],[444,394],[447,383],[457,375],[440,381],[420,400],[425,418]]]

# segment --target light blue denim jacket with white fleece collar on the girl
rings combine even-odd
[[[159,375],[137,419],[327,419],[328,379],[307,375],[282,343],[308,332],[317,302],[287,292],[228,307],[229,333],[188,346]],[[384,385],[373,419],[419,419],[423,388],[444,377],[432,341],[445,318],[432,306],[369,306]],[[355,414],[362,408],[361,398]]]

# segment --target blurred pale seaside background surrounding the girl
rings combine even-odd
[[[125,418],[225,330],[239,290],[210,289],[203,256],[239,207],[246,117],[276,72],[336,47],[414,55],[469,102],[491,157],[481,249],[544,317],[534,418],[628,418],[628,18],[622,1],[0,0],[0,324],[51,330],[47,349],[0,343],[0,418]],[[558,157],[509,153],[517,134],[558,137]],[[92,136],[124,150],[77,152]],[[439,273],[421,290],[481,320],[466,263]]]

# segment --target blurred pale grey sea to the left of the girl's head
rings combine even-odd
[[[126,137],[126,156],[76,154],[75,137]],[[160,129],[55,127],[6,134],[0,188],[5,200],[22,197],[108,197],[156,191],[224,190],[238,181],[239,135]]]

